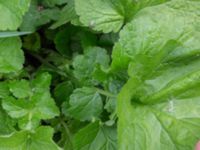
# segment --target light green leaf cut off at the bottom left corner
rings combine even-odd
[[[22,130],[0,136],[0,147],[4,150],[61,150],[51,139],[52,136],[53,129],[50,127],[39,127],[34,133]]]

